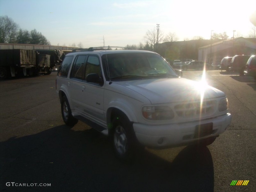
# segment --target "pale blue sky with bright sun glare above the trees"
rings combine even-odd
[[[148,30],[160,24],[179,41],[212,33],[248,36],[249,16],[256,0],[0,0],[0,16],[12,18],[21,29],[36,29],[51,45],[82,43],[83,48],[145,44]]]

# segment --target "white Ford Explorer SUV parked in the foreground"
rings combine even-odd
[[[86,122],[110,135],[116,155],[148,147],[209,145],[231,123],[226,95],[181,78],[157,53],[73,52],[56,78],[63,121]]]

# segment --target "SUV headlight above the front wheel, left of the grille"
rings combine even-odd
[[[173,110],[167,106],[145,106],[142,115],[149,120],[168,120],[174,118]]]

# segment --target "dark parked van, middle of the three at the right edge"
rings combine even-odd
[[[250,56],[248,55],[235,55],[230,62],[231,70],[237,71],[240,75],[243,75],[246,67],[246,62],[249,58]]]

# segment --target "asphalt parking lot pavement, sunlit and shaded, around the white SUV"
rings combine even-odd
[[[208,147],[146,148],[129,164],[115,158],[108,137],[81,121],[64,124],[55,78],[52,72],[0,81],[1,191],[255,191],[253,78],[207,71],[208,84],[228,97],[228,130]],[[233,180],[249,183],[231,186]]]

